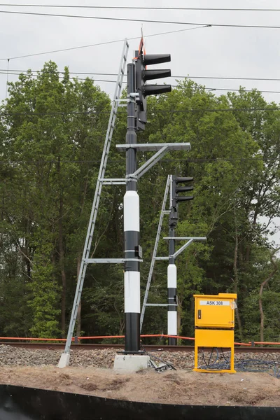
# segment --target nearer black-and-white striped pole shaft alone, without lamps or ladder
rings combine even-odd
[[[134,63],[127,64],[127,134],[126,144],[137,144]],[[137,169],[137,149],[127,148],[126,174],[134,174]],[[125,353],[140,350],[140,262],[139,262],[139,195],[137,179],[128,179],[123,200],[125,258]]]

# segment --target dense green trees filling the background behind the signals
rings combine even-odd
[[[139,141],[190,142],[192,149],[169,153],[139,181],[143,294],[167,174],[195,179],[195,200],[179,207],[178,236],[208,239],[176,261],[182,335],[193,335],[194,293],[236,292],[237,337],[279,337],[279,260],[269,241],[280,216],[275,106],[257,90],[216,97],[190,80],[149,98]],[[68,69],[60,79],[53,62],[36,78],[30,71],[10,83],[0,120],[2,335],[65,336],[109,111],[109,97],[93,80],[70,80]],[[108,177],[125,174],[125,156],[114,147],[125,132],[120,111]],[[149,157],[138,155],[139,165]],[[122,255],[123,195],[122,186],[104,186],[91,255]],[[158,253],[167,255],[163,240]],[[166,300],[167,266],[158,261],[149,302]],[[89,266],[82,302],[81,333],[123,333],[122,267]],[[144,332],[165,332],[166,324],[165,309],[146,309]]]

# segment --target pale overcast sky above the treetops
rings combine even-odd
[[[1,0],[0,0],[1,3]],[[61,4],[73,6],[159,6],[190,8],[279,8],[277,0],[14,0],[8,3]],[[0,10],[38,13],[99,16],[109,18],[132,18],[139,20],[165,20],[195,22],[205,24],[269,25],[280,26],[280,11],[209,11],[209,10],[109,10],[82,8],[24,8],[0,6]],[[141,22],[122,22],[78,18],[57,18],[36,15],[13,15],[0,13],[0,98],[6,97],[9,61],[10,70],[40,70],[44,62],[52,60],[59,70],[69,66],[71,72],[117,73],[123,41],[108,45],[92,46],[65,52],[52,52],[13,59],[22,55],[78,47],[94,43],[122,40],[141,36]],[[143,22],[147,53],[170,53],[170,67],[174,76],[240,77],[240,78],[280,78],[279,37],[280,29],[201,27],[197,25],[175,25]],[[167,31],[174,34],[148,36]],[[130,41],[129,57],[138,49],[139,38]],[[80,76],[83,77],[83,76]],[[18,76],[8,75],[8,80]],[[114,80],[114,76],[95,76],[96,79]],[[278,91],[263,93],[269,102],[279,103],[280,81],[266,80],[211,80],[196,79],[206,87],[216,89],[216,94],[225,93],[218,88],[238,89],[240,85],[251,89]],[[165,79],[167,81],[167,79]],[[114,83],[97,82],[103,90],[112,95]],[[175,79],[170,82],[175,84]],[[280,237],[277,239],[280,241]]]

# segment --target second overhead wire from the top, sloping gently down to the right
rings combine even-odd
[[[132,18],[108,18],[104,16],[80,16],[80,15],[62,15],[54,13],[37,13],[37,12],[18,12],[10,10],[0,10],[0,13],[12,13],[15,15],[34,15],[34,16],[50,16],[57,18],[78,18],[78,19],[96,19],[96,20],[117,20],[121,22],[146,22],[146,23],[162,23],[171,25],[195,25],[203,27],[230,27],[230,28],[262,28],[262,29],[280,29],[280,26],[268,25],[233,25],[222,23],[197,23],[197,22],[178,22],[170,20],[147,20],[147,19],[132,19]]]

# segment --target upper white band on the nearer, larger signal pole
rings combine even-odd
[[[123,197],[123,230],[140,231],[139,195],[137,191],[127,191]]]

